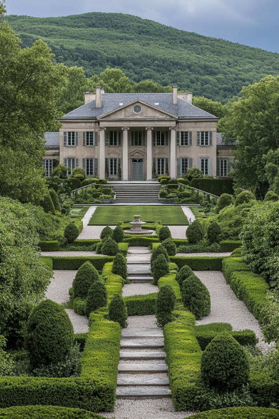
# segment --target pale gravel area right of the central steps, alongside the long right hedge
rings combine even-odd
[[[210,292],[211,312],[209,316],[197,320],[196,324],[215,322],[230,323],[233,330],[250,329],[259,338],[257,346],[266,353],[272,345],[264,342],[259,322],[248,310],[243,301],[238,300],[230,285],[220,271],[194,271]]]

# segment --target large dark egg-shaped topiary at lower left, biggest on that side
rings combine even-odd
[[[64,308],[44,300],[28,317],[25,347],[32,367],[63,361],[74,343],[74,329]]]

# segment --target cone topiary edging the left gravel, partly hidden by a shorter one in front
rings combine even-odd
[[[88,290],[91,285],[100,279],[96,268],[90,262],[84,262],[77,271],[73,281],[73,296],[74,298],[82,298],[85,300]]]

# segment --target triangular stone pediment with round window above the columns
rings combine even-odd
[[[177,119],[177,117],[159,106],[135,99],[98,116],[97,119]]]

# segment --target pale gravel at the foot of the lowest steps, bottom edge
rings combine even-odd
[[[159,376],[159,374],[157,374]],[[118,399],[113,413],[100,412],[115,419],[182,419],[192,412],[175,412],[170,398],[125,400]]]

